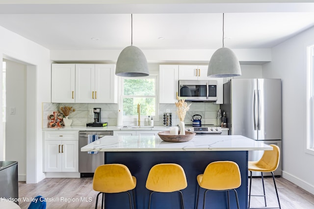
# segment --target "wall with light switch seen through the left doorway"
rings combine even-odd
[[[26,181],[26,66],[6,62],[5,160],[18,161],[19,181]],[[11,114],[10,109],[15,113]]]

